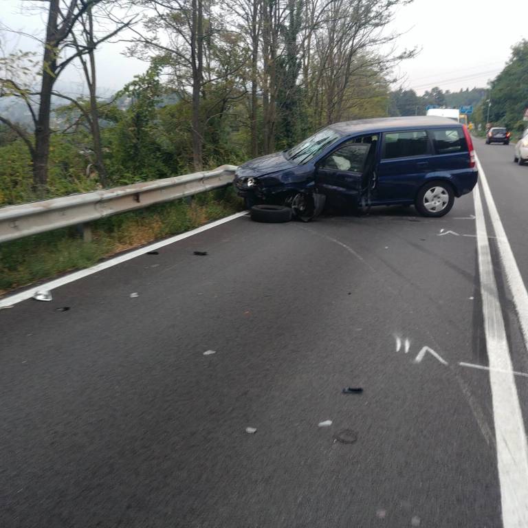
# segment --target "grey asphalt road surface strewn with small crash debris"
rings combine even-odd
[[[476,147],[524,287],[528,166]],[[0,526],[526,528],[522,287],[483,191],[241,217],[1,310]]]

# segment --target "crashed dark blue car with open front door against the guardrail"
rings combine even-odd
[[[325,202],[414,205],[424,216],[442,217],[476,181],[465,125],[416,116],[331,124],[289,150],[246,162],[234,186],[248,207],[287,206],[309,220]]]

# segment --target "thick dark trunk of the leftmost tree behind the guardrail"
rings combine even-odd
[[[43,195],[47,185],[47,159],[50,155],[50,113],[52,91],[55,83],[56,37],[59,0],[50,0],[46,26],[39,115],[35,123],[35,155],[33,159],[33,186],[38,195]]]

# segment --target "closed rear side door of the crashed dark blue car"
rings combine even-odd
[[[411,203],[431,170],[431,155],[425,129],[384,132],[373,203]]]

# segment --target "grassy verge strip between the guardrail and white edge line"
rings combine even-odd
[[[117,214],[91,223],[93,240],[76,228],[26,236],[0,244],[0,294],[56,274],[96,264],[114,253],[194,229],[242,210],[232,188]]]

